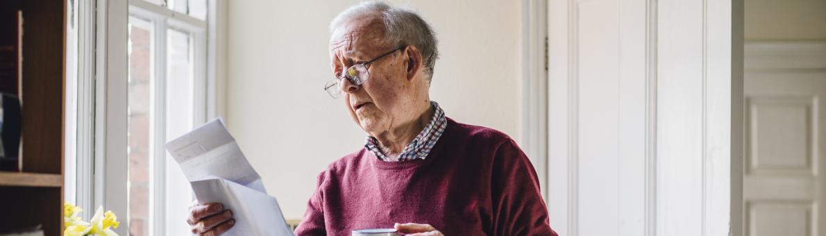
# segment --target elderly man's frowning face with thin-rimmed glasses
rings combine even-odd
[[[336,29],[330,38],[330,65],[335,76],[340,77],[350,66],[396,48],[397,45],[384,43],[382,37],[382,21],[376,18],[351,21]],[[415,119],[405,55],[406,52],[399,50],[369,64],[370,77],[361,86],[341,80],[350,115],[372,135]]]

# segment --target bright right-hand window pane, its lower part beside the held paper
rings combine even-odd
[[[166,139],[172,140],[192,130],[194,124],[194,86],[190,36],[167,31]],[[166,154],[167,222],[186,219],[192,196],[189,183],[169,153]],[[166,235],[188,235],[186,224],[167,224]]]

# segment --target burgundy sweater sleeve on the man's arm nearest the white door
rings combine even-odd
[[[496,149],[491,172],[493,235],[553,235],[534,166],[513,139]]]

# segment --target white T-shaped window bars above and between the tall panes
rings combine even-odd
[[[167,7],[144,1],[129,1],[129,18],[148,21],[152,26],[153,68],[152,97],[150,109],[153,114],[150,121],[150,201],[149,231],[154,235],[166,235],[167,227],[167,183],[174,181],[166,176],[166,88],[169,71],[168,30],[188,33],[190,39],[190,58],[192,59],[192,124],[198,125],[206,120],[207,108],[207,21],[198,20],[187,14],[175,12]],[[131,22],[131,21],[130,21]],[[128,168],[128,167],[127,167]],[[172,167],[174,168],[174,167]],[[178,180],[180,181],[180,180]],[[184,180],[185,181],[185,180]],[[128,190],[127,190],[128,191]],[[191,197],[191,196],[189,196]],[[162,200],[162,201],[161,201]],[[183,219],[183,218],[182,218]],[[175,220],[172,220],[175,222]]]

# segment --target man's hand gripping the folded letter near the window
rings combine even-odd
[[[221,203],[201,205],[196,201],[189,206],[187,223],[192,227],[192,234],[218,236],[230,230],[235,219],[232,219],[232,211],[224,210]]]

